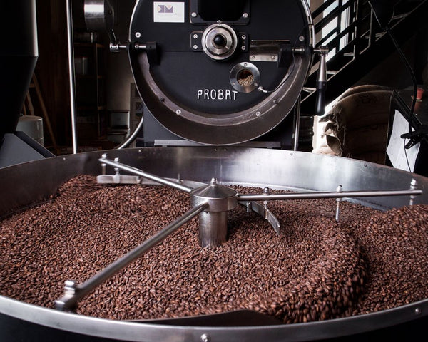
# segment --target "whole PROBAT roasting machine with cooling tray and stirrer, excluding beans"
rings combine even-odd
[[[126,44],[111,31],[107,1],[86,1],[86,6],[88,26],[101,22],[110,28],[112,50],[128,50],[138,90],[158,127],[183,141],[164,142],[173,147],[88,152],[5,167],[0,170],[0,187],[9,195],[0,198],[0,216],[49,199],[63,182],[79,174],[97,175],[102,183],[139,184],[148,179],[174,187],[188,193],[189,211],[136,249],[124,251],[129,253],[85,283],[75,284],[64,274],[65,293],[56,300],[56,309],[0,296],[2,339],[356,341],[415,338],[422,333],[428,299],[372,314],[297,324],[248,311],[156,321],[116,321],[70,312],[89,291],[196,216],[200,245],[211,248],[223,244],[228,212],[241,204],[279,230],[269,201],[335,198],[337,220],[343,197],[376,209],[428,203],[426,177],[340,157],[255,148],[283,147],[281,138],[259,138],[287,122],[316,52],[305,0],[270,1],[270,6],[257,0],[140,0]],[[325,57],[325,50],[318,53]],[[319,82],[322,95],[325,81]],[[183,146],[185,141],[198,146]],[[16,191],[16,184],[24,190]],[[291,192],[241,194],[229,185]]]

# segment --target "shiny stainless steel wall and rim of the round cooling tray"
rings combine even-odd
[[[424,190],[424,195],[417,197],[416,202],[428,203],[426,177],[340,157],[238,147],[153,147],[112,150],[108,151],[108,155],[120,157],[123,162],[151,172],[157,170],[163,177],[175,178],[180,173],[182,179],[195,181],[207,182],[212,177],[217,177],[223,184],[238,182],[243,185],[269,185],[300,190],[334,190],[337,182],[347,190],[358,190],[362,185],[365,185],[365,189],[370,187],[373,190],[397,189],[407,187],[415,178],[419,188]],[[0,187],[11,193],[11,197],[0,199],[0,214],[25,207],[35,198],[41,201],[73,175],[98,174],[101,171],[99,157],[101,152],[88,152],[1,169]],[[28,180],[25,175],[30,172],[34,177]],[[317,178],[317,182],[309,181],[313,178]],[[17,182],[21,182],[24,190],[21,193],[16,190]],[[365,199],[362,203],[372,207],[400,207],[408,204],[408,199],[377,197]],[[150,321],[110,321],[45,309],[4,296],[0,296],[0,313],[63,331],[128,341],[201,341],[203,334],[210,336],[212,341],[310,341],[314,338],[333,338],[387,328],[425,317],[428,315],[428,299],[374,314],[331,321],[231,328],[168,326]]]

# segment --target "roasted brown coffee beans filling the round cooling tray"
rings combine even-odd
[[[240,193],[262,189],[235,187]],[[68,180],[49,201],[0,222],[0,294],[53,307],[190,209],[169,187]],[[278,236],[229,212],[228,241],[198,245],[198,219],[88,294],[78,314],[151,319],[251,309],[284,323],[340,318],[428,298],[428,206],[378,212],[335,199],[270,202]]]

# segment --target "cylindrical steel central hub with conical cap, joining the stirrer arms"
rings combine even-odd
[[[218,247],[228,236],[228,211],[238,206],[238,192],[219,185],[213,178],[209,185],[190,192],[190,204],[198,207],[208,204],[199,214],[199,244],[202,247]]]

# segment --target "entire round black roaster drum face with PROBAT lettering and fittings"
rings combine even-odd
[[[301,0],[268,2],[138,1],[129,57],[161,125],[185,140],[233,145],[290,113],[312,61],[312,21]]]

